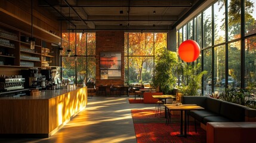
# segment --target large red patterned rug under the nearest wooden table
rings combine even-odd
[[[191,121],[189,126],[189,134],[184,138],[177,136],[180,134],[180,116],[172,116],[171,125],[165,125],[166,119],[155,117],[154,110],[131,110],[132,119],[134,121],[134,129],[138,143],[153,143],[153,142],[206,142],[206,131],[197,126],[197,133],[195,126]],[[164,116],[164,113],[162,113]],[[155,119],[155,120],[154,120]]]

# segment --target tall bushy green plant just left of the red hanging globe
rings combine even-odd
[[[176,52],[168,51],[163,48],[158,51],[159,55],[156,57],[156,74],[154,85],[159,86],[159,90],[164,94],[169,94],[176,83],[175,67],[178,64],[178,55]]]

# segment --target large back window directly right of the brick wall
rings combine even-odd
[[[155,56],[166,47],[166,33],[125,33],[125,83],[152,83]]]

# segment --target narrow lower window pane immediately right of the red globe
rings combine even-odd
[[[203,50],[203,70],[207,71],[207,74],[203,76],[203,94],[211,94],[211,73],[212,73],[212,49]]]

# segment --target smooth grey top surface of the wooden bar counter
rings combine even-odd
[[[34,96],[23,97],[2,97],[0,100],[48,100],[50,98],[58,97],[59,95],[67,94],[68,92],[81,89],[76,87],[75,89],[55,89],[55,90],[43,90],[41,94]]]

